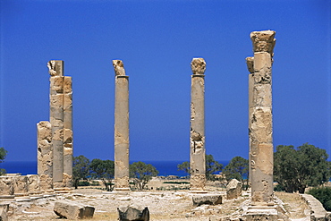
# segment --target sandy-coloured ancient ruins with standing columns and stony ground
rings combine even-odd
[[[109,156],[115,159],[114,190],[74,189],[74,79],[64,76],[64,61],[51,60],[47,63],[49,119],[37,123],[38,174],[0,176],[0,220],[331,220],[331,214],[312,196],[274,191],[272,65],[275,35],[274,30],[250,33],[253,55],[246,58],[248,78],[242,74],[242,78],[248,79],[249,93],[248,191],[243,191],[243,183],[235,179],[222,186],[206,178],[205,79],[208,81],[208,74],[205,75],[207,63],[200,57],[191,60],[191,121],[188,128],[191,176],[187,184],[176,186],[188,188],[160,190],[170,184],[153,177],[146,190],[132,190],[129,76],[123,61],[114,60],[115,156]]]

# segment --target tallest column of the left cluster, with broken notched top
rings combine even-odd
[[[53,183],[63,187],[64,179],[64,61],[49,61],[50,123],[52,124]]]

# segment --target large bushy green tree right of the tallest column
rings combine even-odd
[[[286,192],[304,193],[308,186],[318,186],[330,178],[327,151],[305,143],[293,146],[279,145],[274,155],[274,178]]]

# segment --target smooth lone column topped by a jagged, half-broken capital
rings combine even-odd
[[[115,69],[115,189],[129,187],[129,76],[121,60],[113,60]]]

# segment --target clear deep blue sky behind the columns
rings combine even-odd
[[[248,158],[250,32],[276,30],[274,146],[331,155],[330,0],[0,0],[0,147],[36,160],[49,60],[72,76],[74,156],[114,159],[115,72],[130,76],[130,159],[189,160],[191,59],[206,69],[206,149]]]

